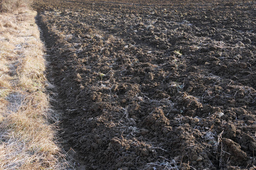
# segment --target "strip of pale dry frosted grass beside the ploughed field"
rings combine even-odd
[[[35,16],[0,14],[0,169],[70,169],[56,145]]]

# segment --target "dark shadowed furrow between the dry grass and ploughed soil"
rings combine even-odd
[[[64,148],[64,151],[67,152],[67,158],[73,163],[73,168],[80,170],[85,169],[85,165],[80,160],[79,151],[76,151],[75,148],[68,142],[70,135],[75,132],[71,126],[67,124],[69,109],[63,109],[63,101],[59,94],[63,92],[63,88],[61,88],[60,79],[59,79],[59,67],[56,67],[57,63],[55,61],[55,57],[60,56],[61,54],[56,50],[57,39],[59,39],[58,35],[55,35],[52,32],[49,32],[46,24],[42,21],[41,12],[38,12],[36,16],[36,24],[38,24],[41,35],[40,38],[46,45],[46,75],[49,83],[53,85],[49,91],[51,94],[51,105],[56,112],[62,113],[62,117],[59,123],[59,140],[61,146]]]

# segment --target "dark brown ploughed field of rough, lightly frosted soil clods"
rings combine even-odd
[[[255,168],[254,1],[35,8],[63,145],[85,169]]]

